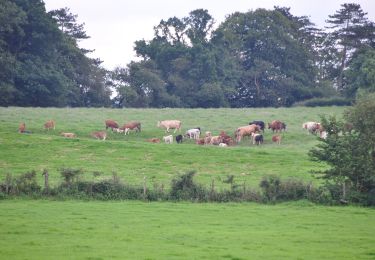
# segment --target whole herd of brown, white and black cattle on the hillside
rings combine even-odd
[[[180,120],[164,120],[158,121],[157,127],[164,128],[165,133],[169,133],[169,130],[173,129],[176,133],[177,131],[181,132],[182,123]],[[161,140],[166,144],[173,143],[176,140],[177,143],[182,143],[184,139],[193,139],[195,143],[198,145],[218,145],[220,147],[226,146],[233,146],[241,142],[241,140],[248,136],[251,138],[253,144],[261,145],[264,142],[264,131],[265,131],[265,123],[263,121],[252,121],[249,125],[238,127],[234,131],[233,137],[228,135],[225,131],[221,131],[219,135],[212,135],[210,131],[206,131],[204,133],[204,137],[201,137],[201,128],[196,127],[189,129],[185,132],[184,135],[178,134],[173,137],[172,134],[165,135],[161,139],[160,138],[150,138],[146,139],[147,142],[151,143],[160,143]],[[270,129],[273,133],[272,141],[280,144],[281,143],[281,132],[286,131],[286,124],[281,122],[280,120],[273,120],[271,123],[268,123],[268,129]],[[320,138],[326,139],[327,132],[323,129],[322,125],[318,122],[306,122],[302,124],[302,128],[306,129],[309,133],[319,135]],[[55,122],[53,120],[49,120],[44,124],[44,129],[51,130],[55,129]],[[112,132],[115,133],[124,133],[128,135],[130,131],[135,131],[135,133],[141,132],[141,123],[137,121],[132,121],[129,123],[124,124],[122,127],[119,127],[119,124],[114,120],[105,120],[105,129],[103,131],[97,131],[91,133],[91,136],[96,139],[106,140],[107,138],[107,130],[111,129]],[[18,131],[20,133],[31,133],[30,131],[26,130],[25,123],[21,123],[19,125]],[[62,132],[61,136],[66,138],[76,138],[77,135],[75,133],[70,132]]]

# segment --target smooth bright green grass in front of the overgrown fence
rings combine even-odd
[[[373,259],[369,208],[0,202],[1,259]]]

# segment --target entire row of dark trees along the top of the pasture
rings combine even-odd
[[[89,36],[69,8],[2,0],[0,105],[266,107],[375,91],[374,23],[343,4],[317,28],[290,8],[207,10],[161,20],[140,58],[105,70],[79,47]]]

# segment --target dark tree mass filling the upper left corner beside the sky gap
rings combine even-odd
[[[87,35],[69,9],[2,0],[0,23],[0,105],[110,104],[106,71],[78,47]]]

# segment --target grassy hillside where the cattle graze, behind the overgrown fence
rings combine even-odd
[[[209,184],[212,179],[220,186],[227,175],[237,182],[257,186],[266,174],[282,178],[298,178],[317,182],[312,169],[324,165],[311,162],[308,150],[317,138],[301,129],[305,121],[319,120],[319,115],[341,116],[344,108],[262,108],[262,109],[104,109],[104,108],[0,108],[0,177],[6,173],[20,174],[29,170],[50,171],[52,184],[60,181],[61,167],[82,168],[84,178],[106,178],[112,172],[129,183],[140,184],[147,176],[149,185],[169,185],[170,180],[187,170],[197,170],[197,180]],[[48,119],[56,121],[56,130],[45,131]],[[142,132],[128,136],[108,131],[105,142],[90,137],[104,129],[104,120],[120,124],[138,120]],[[145,139],[161,138],[164,130],[156,127],[158,120],[179,119],[183,131],[200,126],[202,131],[218,134],[221,130],[233,135],[238,126],[251,120],[270,122],[279,119],[287,124],[280,146],[271,142],[272,132],[266,130],[265,143],[257,147],[245,139],[230,148],[197,146],[188,140],[181,145],[150,144]],[[20,122],[32,134],[17,133]],[[65,139],[60,132],[74,132],[76,139]],[[94,177],[92,172],[103,172]],[[41,179],[41,177],[40,177]]]

